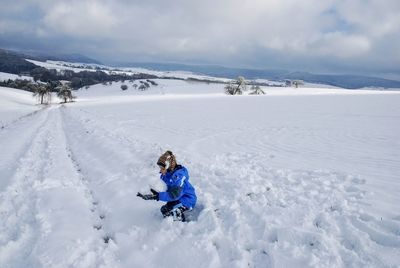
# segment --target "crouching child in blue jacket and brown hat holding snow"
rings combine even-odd
[[[166,151],[157,161],[160,168],[160,179],[167,185],[165,192],[151,189],[151,194],[137,195],[144,200],[157,200],[167,202],[161,207],[164,217],[173,216],[174,220],[185,221],[184,212],[191,210],[196,205],[196,192],[189,182],[187,169],[176,163],[176,158],[171,151]]]

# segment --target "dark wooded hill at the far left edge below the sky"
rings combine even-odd
[[[30,72],[37,66],[26,61],[21,55],[0,49],[0,72],[20,74]]]

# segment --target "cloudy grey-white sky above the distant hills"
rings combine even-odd
[[[400,73],[399,0],[0,0],[0,47],[102,62]]]

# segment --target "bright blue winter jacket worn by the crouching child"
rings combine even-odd
[[[189,182],[189,173],[184,166],[178,165],[174,171],[161,174],[160,179],[167,184],[167,191],[159,193],[159,200],[170,202],[179,200],[191,209],[196,205],[196,192]]]

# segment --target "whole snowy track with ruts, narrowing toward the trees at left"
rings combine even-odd
[[[47,114],[1,196],[0,266],[115,266],[68,159],[59,109]]]

